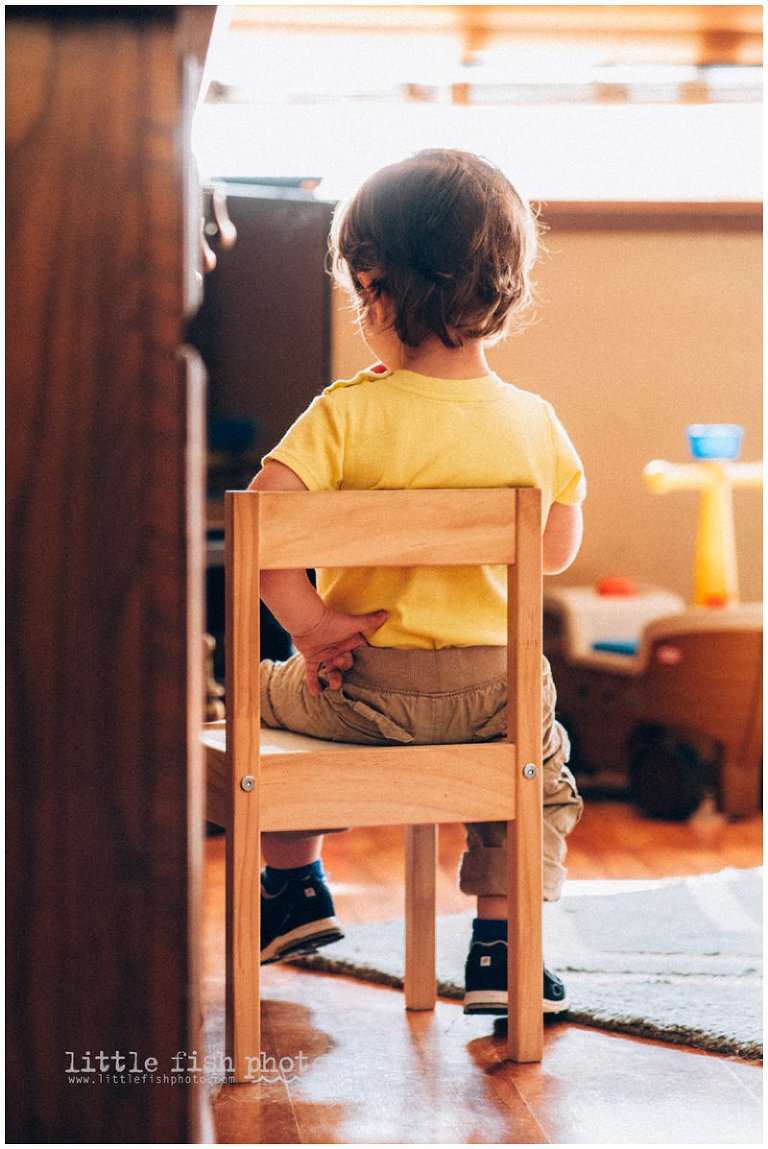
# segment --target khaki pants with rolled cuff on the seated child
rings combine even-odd
[[[340,742],[430,745],[485,742],[507,733],[504,647],[394,650],[360,647],[340,691],[307,689],[304,660],[261,663],[261,716],[268,726]],[[566,877],[566,836],[583,802],[566,763],[568,735],[555,722],[555,689],[543,666],[544,899],[560,897]],[[467,825],[459,869],[466,894],[504,895],[506,823]]]

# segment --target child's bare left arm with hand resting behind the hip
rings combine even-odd
[[[306,491],[307,487],[290,466],[268,460],[248,489]],[[364,631],[375,631],[386,620],[385,610],[346,615],[327,607],[302,570],[262,571],[261,597],[304,655],[307,686],[314,695],[322,691],[321,666],[331,689],[339,689],[343,671],[352,665],[350,651],[367,645]]]

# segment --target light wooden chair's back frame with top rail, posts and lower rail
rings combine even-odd
[[[405,811],[404,817],[392,818],[398,822],[517,816],[514,780],[507,805],[500,804],[500,779],[510,774],[509,743],[521,765],[540,766],[542,756],[540,493],[530,488],[228,493],[226,742],[235,792],[244,773],[258,770],[260,756],[260,571],[460,564],[502,564],[508,570],[508,738],[484,751],[485,773],[478,768],[477,786],[474,793],[464,793],[461,811],[441,778],[471,769],[473,761],[478,761],[476,754],[473,757],[468,748],[451,746],[429,748],[430,754],[423,747],[387,747],[381,755],[366,754],[364,791],[350,789],[348,804],[335,816],[318,810],[322,787],[313,789],[312,777],[320,763],[309,763],[302,807],[289,809],[276,801],[262,818],[263,828],[312,828],[318,817],[325,827],[384,823],[389,818],[381,810],[386,796],[392,802],[398,794]],[[414,755],[418,771],[414,771]],[[293,768],[298,769],[295,759]],[[416,793],[408,799],[406,791],[414,786]],[[277,789],[276,782],[275,794]],[[522,789],[528,801],[537,801],[531,793],[539,786]],[[307,819],[304,824],[302,818]]]

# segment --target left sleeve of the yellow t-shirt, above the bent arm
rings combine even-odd
[[[299,476],[309,491],[333,491],[341,483],[344,430],[338,400],[318,395],[285,432],[263,463],[274,460]]]

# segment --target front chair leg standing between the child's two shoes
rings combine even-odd
[[[406,826],[406,1009],[435,1009],[437,826]]]

